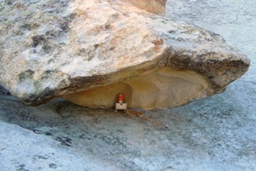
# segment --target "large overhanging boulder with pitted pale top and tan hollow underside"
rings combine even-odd
[[[132,1],[131,1],[132,2]],[[101,0],[4,1],[0,84],[24,103],[183,105],[222,92],[249,59],[217,34]]]

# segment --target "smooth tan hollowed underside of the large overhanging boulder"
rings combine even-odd
[[[206,96],[208,82],[187,70],[160,68],[126,81],[68,94],[64,99],[85,107],[114,107],[117,94],[124,94],[128,107],[153,109],[174,107]]]

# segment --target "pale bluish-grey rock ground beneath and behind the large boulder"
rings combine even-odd
[[[223,35],[251,59],[223,94],[185,107],[113,112],[0,99],[0,170],[255,170],[254,1],[167,2],[166,15]]]

